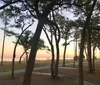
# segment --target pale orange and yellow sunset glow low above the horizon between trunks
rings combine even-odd
[[[6,60],[6,61],[12,60],[14,43],[12,43],[11,39],[14,40],[13,38],[6,38],[6,40],[5,40],[4,60]],[[0,42],[0,47],[1,47],[1,49],[0,49],[0,54],[1,54],[1,52],[2,52],[2,42]],[[66,56],[68,58],[72,58],[73,52],[74,52],[73,48],[68,46]],[[16,60],[19,59],[19,56],[22,53],[23,53],[23,48],[21,46],[18,46],[17,52],[16,52]],[[63,55],[63,47],[60,46],[60,58],[62,57],[62,55]],[[41,51],[41,50],[39,50],[37,52],[37,58],[36,58],[37,60],[48,60],[50,58],[51,58],[51,52],[47,53],[46,51]]]

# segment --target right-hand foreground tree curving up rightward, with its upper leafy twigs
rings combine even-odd
[[[81,1],[80,1],[81,2]],[[90,20],[91,20],[91,16],[94,10],[94,7],[96,5],[97,0],[94,0],[93,3],[91,4],[87,4],[86,6],[89,6],[89,9],[85,10],[85,18],[82,17],[82,11],[84,11],[84,9],[80,10],[81,8],[79,8],[76,14],[81,14],[81,17],[84,19],[84,26],[82,29],[82,33],[81,33],[81,44],[80,44],[80,54],[79,54],[79,85],[84,85],[83,82],[83,51],[84,51],[84,41],[85,41],[85,37],[86,37],[86,30],[91,28],[89,27],[90,25]],[[86,7],[83,6],[83,7]],[[90,57],[90,56],[89,56]]]

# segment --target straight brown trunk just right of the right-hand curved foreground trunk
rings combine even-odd
[[[89,72],[93,73],[92,69],[92,59],[91,59],[91,29],[88,30],[88,68]]]

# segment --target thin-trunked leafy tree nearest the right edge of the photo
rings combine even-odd
[[[98,7],[97,7],[98,9]],[[91,47],[92,47],[92,52],[93,52],[93,64],[92,64],[92,68],[93,71],[95,70],[95,49],[96,47],[98,47],[100,45],[100,26],[99,26],[99,16],[97,15],[98,12],[95,12],[94,16],[91,19],[91,28],[92,28],[92,32],[91,32]]]

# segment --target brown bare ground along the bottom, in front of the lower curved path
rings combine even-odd
[[[23,76],[17,76],[15,79],[10,78],[0,78],[0,85],[22,85]],[[33,74],[31,85],[77,85],[76,82],[59,78],[59,79],[51,79],[48,75],[42,74]]]

